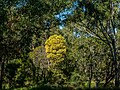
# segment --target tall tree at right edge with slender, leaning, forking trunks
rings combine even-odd
[[[115,79],[115,86],[119,86],[119,61],[116,47],[116,30],[119,26],[118,5],[118,0],[79,0],[79,8],[75,10],[75,15],[72,19],[68,19],[75,22],[74,26],[80,31],[81,27],[85,27],[82,31],[103,41],[109,47],[111,65],[108,65],[109,73],[106,76],[105,86],[113,79]]]

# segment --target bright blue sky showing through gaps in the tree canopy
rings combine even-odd
[[[28,0],[20,0],[16,3],[17,8],[21,8],[27,4]],[[62,30],[65,27],[65,20],[68,18],[68,16],[73,15],[74,10],[78,7],[78,0],[73,2],[72,6],[70,8],[65,8],[63,11],[59,12],[55,15],[55,18],[59,21],[59,29]],[[85,6],[82,7],[83,12],[86,11]],[[120,9],[120,3],[119,3],[119,9]],[[117,33],[117,29],[115,28],[115,31]],[[76,32],[73,32],[73,34],[76,34]],[[79,35],[78,35],[79,36]]]

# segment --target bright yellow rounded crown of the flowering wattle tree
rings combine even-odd
[[[64,60],[66,54],[66,41],[61,35],[52,35],[45,42],[47,58],[50,60],[50,65],[55,66],[57,63]]]

